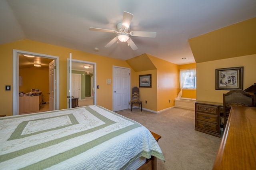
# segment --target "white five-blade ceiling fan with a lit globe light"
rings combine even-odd
[[[132,41],[130,36],[134,37],[148,37],[148,38],[155,38],[156,32],[143,32],[143,31],[131,31],[130,32],[130,24],[132,21],[133,14],[129,12],[124,12],[122,22],[116,25],[117,30],[107,30],[103,28],[92,28],[90,27],[89,30],[91,31],[102,31],[102,32],[112,32],[118,34],[115,38],[113,38],[105,47],[110,47],[116,41],[120,42],[127,42],[128,45],[133,49],[136,50],[138,47]],[[129,36],[130,35],[130,36]]]

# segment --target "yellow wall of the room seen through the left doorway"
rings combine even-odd
[[[49,68],[30,67],[19,70],[19,75],[22,76],[22,86],[19,86],[19,91],[28,93],[31,89],[39,89],[42,91],[44,101],[49,101]]]

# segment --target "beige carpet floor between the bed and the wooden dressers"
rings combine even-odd
[[[221,138],[194,130],[194,111],[174,107],[152,113],[134,108],[132,112],[126,109],[116,113],[162,136],[158,144],[166,162],[158,160],[158,170],[212,169]]]

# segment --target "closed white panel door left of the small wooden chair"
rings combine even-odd
[[[130,69],[113,67],[114,111],[129,108],[130,102]]]

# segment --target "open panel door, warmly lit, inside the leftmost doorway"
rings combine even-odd
[[[56,90],[56,71],[55,71],[56,65],[55,60],[52,60],[52,62],[49,63],[49,110],[54,111],[56,110],[56,103],[55,103],[55,90]]]

